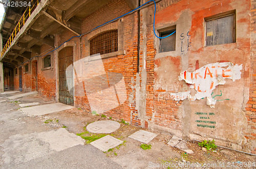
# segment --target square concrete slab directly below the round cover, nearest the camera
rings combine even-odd
[[[114,147],[122,144],[123,142],[120,139],[112,137],[110,135],[106,135],[100,139],[95,140],[94,142],[90,143],[94,147],[98,148],[99,150],[106,152],[109,149],[113,149]]]

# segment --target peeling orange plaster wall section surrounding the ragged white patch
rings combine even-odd
[[[232,10],[236,11],[236,42],[205,47],[204,18]],[[182,0],[157,11],[156,30],[176,25],[176,50],[159,53],[159,39],[154,38],[154,115],[149,127],[168,131],[185,139],[214,138],[219,145],[244,149],[247,142],[244,137],[247,126],[244,110],[250,80],[249,13],[250,1],[238,0],[207,3]],[[206,105],[206,98],[175,101],[171,97],[178,92],[190,91],[191,96],[197,92],[190,89],[190,85],[184,80],[179,81],[181,72],[187,69],[193,72],[204,65],[217,62],[242,65],[242,70],[241,79],[225,79],[224,85],[216,86],[212,91],[212,96],[217,100],[215,108]]]

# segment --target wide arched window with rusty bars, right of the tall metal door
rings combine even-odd
[[[90,54],[105,54],[117,51],[117,30],[105,31],[90,40]]]

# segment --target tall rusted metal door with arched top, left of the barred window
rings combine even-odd
[[[74,105],[73,47],[59,51],[59,102]]]

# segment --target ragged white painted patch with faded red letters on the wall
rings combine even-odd
[[[227,67],[227,68],[225,68]],[[231,62],[207,64],[194,72],[185,70],[180,73],[179,80],[185,80],[191,84],[190,88],[197,91],[195,96],[190,95],[190,91],[171,93],[171,98],[174,100],[200,100],[206,97],[206,104],[214,107],[216,99],[211,97],[211,93],[216,86],[224,85],[225,78],[233,81],[241,78],[242,65],[233,65]]]

